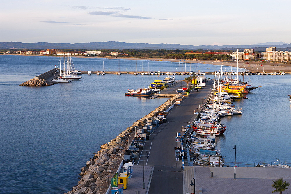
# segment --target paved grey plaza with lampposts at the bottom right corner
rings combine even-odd
[[[199,193],[199,188],[202,188],[203,194],[266,194],[274,191],[272,180],[283,177],[284,181],[291,183],[291,169],[289,168],[237,167],[236,179],[233,179],[233,167],[196,166],[187,168],[185,168],[187,171],[193,168],[194,174],[193,172],[183,172],[184,193],[189,192],[189,184],[192,178],[196,180],[195,193]],[[213,172],[213,178],[210,177],[210,172]],[[192,187],[194,189],[194,186]],[[290,188],[283,193],[291,194]]]

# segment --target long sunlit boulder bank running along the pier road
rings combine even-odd
[[[145,117],[137,120],[132,126],[127,127],[116,138],[108,143],[101,145],[100,151],[94,155],[93,159],[86,162],[86,166],[81,168],[80,181],[71,191],[64,194],[101,194],[106,193],[108,185],[111,184],[111,178],[116,173],[120,162],[123,161],[125,150],[129,148],[134,138],[134,129],[139,129],[146,124],[148,120],[153,119],[159,111],[165,111],[173,103],[175,99],[181,98],[181,95],[167,100],[164,104],[150,112]],[[108,182],[109,181],[109,182]]]

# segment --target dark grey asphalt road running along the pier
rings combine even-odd
[[[182,161],[175,160],[174,147],[177,146],[175,137],[181,132],[182,126],[193,120],[194,110],[199,111],[198,105],[205,102],[204,98],[210,93],[212,82],[206,83],[198,92],[190,92],[190,96],[183,99],[181,106],[174,106],[168,114],[167,123],[163,123],[151,135],[150,140],[145,142],[143,154],[146,166],[154,166],[149,194],[156,193],[183,193]],[[180,143],[178,143],[178,146]],[[136,163],[143,165],[143,156]]]

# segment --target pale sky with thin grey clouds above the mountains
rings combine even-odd
[[[0,42],[291,43],[290,0],[10,0]]]

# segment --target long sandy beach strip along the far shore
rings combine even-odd
[[[13,56],[50,56],[50,57],[60,57],[59,55],[20,55],[20,54],[1,54],[1,55],[13,55]],[[170,61],[170,62],[179,62],[179,59],[162,59],[162,58],[132,58],[132,57],[98,57],[98,56],[72,56],[76,58],[107,58],[107,59],[123,59],[123,60],[150,60],[150,61]],[[187,63],[198,63],[198,64],[212,64],[212,65],[225,65],[230,67],[237,67],[237,62],[233,61],[223,61],[223,62],[215,62],[213,60],[183,60]],[[249,64],[245,64],[249,63]],[[246,62],[244,64],[242,61],[239,61],[239,67],[245,68],[250,72],[279,72],[284,71],[285,73],[291,73],[291,64],[287,63],[264,63],[263,62]]]

